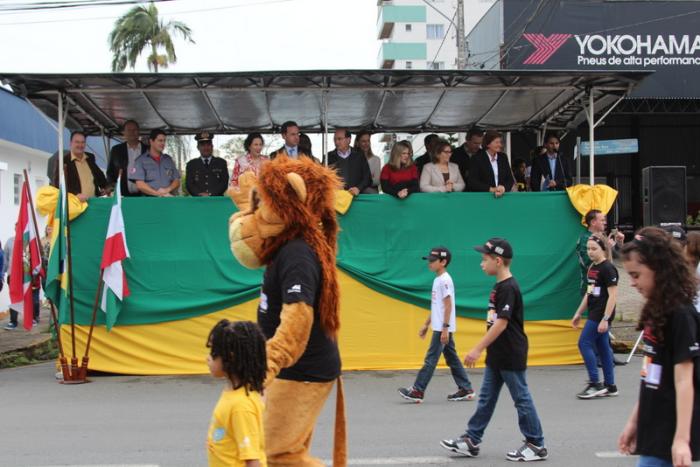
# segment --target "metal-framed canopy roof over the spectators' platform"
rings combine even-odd
[[[143,130],[192,134],[276,131],[452,132],[572,128],[625,96],[649,72],[349,70],[243,73],[5,74],[0,80],[69,128],[115,134],[127,119]]]

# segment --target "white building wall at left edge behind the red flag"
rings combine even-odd
[[[37,149],[28,148],[0,139],[0,241],[3,247],[5,242],[14,235],[15,222],[19,213],[19,202],[15,204],[15,175],[22,177],[22,170],[27,169],[32,195],[35,196],[37,188],[48,185],[46,166],[51,154]],[[40,233],[43,235],[46,219],[37,215]],[[9,261],[5,258],[5,261]],[[4,278],[3,278],[4,280]],[[5,284],[0,292],[0,310],[5,310],[9,303],[8,286]]]

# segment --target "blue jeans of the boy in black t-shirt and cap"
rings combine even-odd
[[[486,366],[484,381],[481,383],[481,392],[479,393],[479,402],[476,406],[476,412],[467,424],[466,435],[474,443],[481,443],[484,431],[486,431],[493,411],[496,409],[496,402],[498,402],[503,383],[508,387],[510,397],[518,411],[520,432],[529,443],[535,446],[544,446],[542,425],[537,416],[532,396],[530,396],[530,390],[527,388],[525,370],[496,370]]]

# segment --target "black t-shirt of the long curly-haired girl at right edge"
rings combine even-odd
[[[673,366],[693,360],[693,416],[690,426],[690,450],[700,460],[700,378],[698,377],[698,328],[700,316],[691,304],[675,309],[664,328],[659,345],[650,328],[644,329],[644,363],[639,390],[637,453],[671,460],[671,445],[676,431],[676,387]]]

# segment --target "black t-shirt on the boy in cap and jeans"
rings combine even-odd
[[[507,319],[508,326],[486,349],[486,364],[496,370],[527,368],[527,336],[523,323],[523,296],[514,277],[497,282],[489,297],[487,328],[497,319]]]

